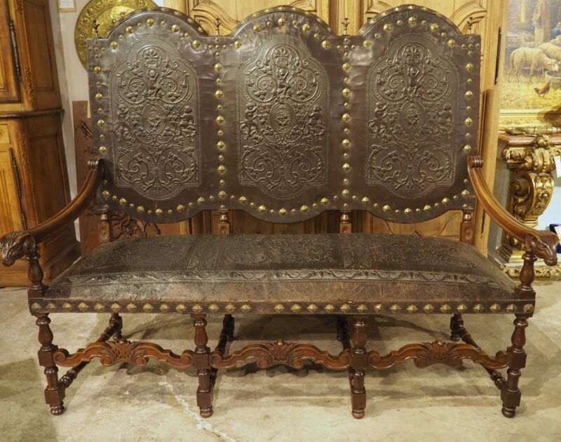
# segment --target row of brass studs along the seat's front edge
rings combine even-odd
[[[86,302],[79,302],[79,304],[76,305],[77,309],[79,309],[79,311],[81,312],[86,312],[86,311],[90,311],[90,305],[87,304]],[[157,308],[156,308],[157,307]],[[320,307],[318,307],[317,304],[311,303],[308,304],[307,306],[302,306],[302,304],[282,304],[282,303],[278,303],[276,305],[273,306],[273,311],[276,313],[283,313],[283,312],[292,312],[292,313],[299,313],[302,312],[302,309],[305,309],[310,312],[310,313],[316,313],[318,312],[318,310],[320,310]],[[32,312],[39,312],[43,307],[41,307],[40,304],[37,304],[36,302],[34,302],[31,305],[31,310]],[[70,302],[65,302],[64,304],[62,304],[60,307],[58,307],[56,304],[54,304],[53,302],[48,302],[48,304],[46,305],[46,309],[48,310],[48,312],[56,312],[56,311],[66,311],[69,312],[74,308],[74,306],[70,303]],[[97,313],[102,313],[106,311],[106,306],[100,302],[96,302],[93,305],[93,310]],[[475,304],[473,305],[473,307],[471,307],[471,312],[475,312],[475,313],[482,313],[485,312],[485,306],[483,304]],[[109,307],[109,309],[111,309],[111,311],[113,312],[121,312],[123,310],[123,306],[117,302],[114,302],[111,304],[111,306]],[[162,304],[160,304],[159,306],[155,306],[154,304],[150,304],[150,303],[146,303],[143,304],[142,306],[139,306],[133,302],[129,302],[128,304],[126,304],[126,306],[124,306],[124,309],[126,309],[126,311],[133,313],[133,312],[137,312],[139,309],[142,309],[142,311],[146,312],[146,313],[156,313],[156,312],[161,312],[161,313],[167,313],[172,311],[172,307],[169,304],[166,304],[165,302],[163,302]],[[194,313],[201,313],[203,312],[205,308],[203,307],[203,305],[201,304],[194,304],[191,306],[191,312]],[[218,304],[212,303],[209,304],[208,307],[206,307],[206,309],[208,310],[208,312],[211,313],[217,313],[220,310],[220,307]],[[499,313],[501,312],[503,309],[503,307],[501,307],[501,305],[499,304],[492,304],[491,306],[489,306],[489,312],[492,313]],[[179,313],[187,313],[189,310],[189,308],[185,305],[185,304],[177,304],[175,306],[175,311],[179,312]],[[244,303],[241,304],[240,306],[240,310],[243,313],[249,313],[252,311],[252,306],[249,303]],[[323,310],[327,313],[334,313],[337,311],[337,307],[335,307],[333,304],[325,304],[325,306],[323,307]],[[450,304],[442,304],[440,305],[440,307],[435,307],[433,304],[428,303],[428,304],[424,304],[423,306],[419,307],[417,306],[417,304],[409,304],[407,307],[402,306],[400,304],[374,304],[374,306],[372,307],[372,310],[369,309],[369,307],[366,304],[358,304],[356,306],[356,308],[354,309],[356,312],[363,314],[363,313],[367,313],[367,312],[374,312],[374,313],[387,313],[387,312],[391,312],[393,314],[398,314],[398,313],[406,313],[406,314],[414,314],[419,312],[419,310],[421,310],[424,313],[430,314],[433,312],[437,312],[440,311],[441,313],[444,314],[449,314],[449,313],[468,313],[470,312],[470,308],[468,307],[468,305],[466,304],[459,304],[457,305],[457,307],[454,309],[450,306]],[[515,304],[508,304],[506,307],[504,307],[504,312],[506,313],[515,313],[517,312],[518,307]],[[236,305],[234,304],[226,304],[224,306],[224,312],[227,313],[233,313],[236,311]],[[353,311],[353,305],[351,305],[350,303],[345,303],[342,304],[339,307],[339,311],[342,313],[350,313]],[[534,311],[534,305],[533,304],[525,304],[522,307],[522,311],[524,313],[532,313]]]

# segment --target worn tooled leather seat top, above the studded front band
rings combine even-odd
[[[431,291],[448,296],[463,293],[473,299],[509,297],[514,288],[507,276],[471,246],[446,239],[239,234],[163,236],[105,244],[62,274],[47,297],[90,293],[102,298],[136,291],[142,284],[143,295],[158,297],[206,293],[212,287],[224,289],[228,297],[251,293],[274,298],[282,296],[283,290],[295,295],[299,284],[309,283],[325,283],[318,293],[331,291],[334,297],[360,293],[366,298],[381,292],[398,297],[402,292],[427,290],[428,295],[434,294]]]

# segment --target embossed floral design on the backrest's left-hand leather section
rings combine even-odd
[[[198,185],[193,69],[162,40],[139,41],[111,73],[115,180],[165,200]]]

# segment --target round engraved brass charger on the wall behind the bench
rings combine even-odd
[[[76,53],[82,66],[87,68],[86,39],[95,36],[105,38],[109,34],[109,29],[123,16],[142,8],[157,6],[151,0],[91,0],[82,9],[74,29]]]

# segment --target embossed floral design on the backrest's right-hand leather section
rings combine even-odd
[[[366,178],[398,196],[422,196],[454,180],[457,73],[438,55],[428,39],[406,36],[370,69]]]

